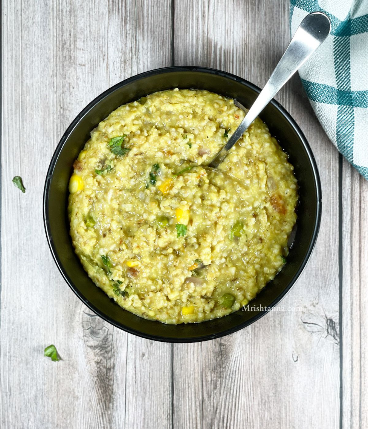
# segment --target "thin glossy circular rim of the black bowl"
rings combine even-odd
[[[208,73],[208,74],[214,74],[217,76],[222,76],[227,79],[234,80],[236,82],[241,83],[242,85],[252,89],[256,93],[260,93],[261,89],[257,87],[256,85],[252,84],[251,82],[247,81],[246,79],[240,78],[239,76],[236,76],[234,74],[224,72],[222,70],[213,69],[209,67],[201,67],[201,66],[170,66],[170,67],[161,67],[158,69],[149,70],[143,73],[139,73],[135,76],[131,76],[128,79],[125,79],[116,85],[113,85],[111,88],[108,88],[106,91],[103,91],[100,95],[98,95],[94,100],[92,100],[90,103],[88,103],[87,106],[85,106],[84,109],[82,109],[81,112],[76,116],[76,118],[71,122],[69,127],[67,127],[67,130],[64,132],[63,136],[61,137],[58,145],[55,148],[55,151],[52,155],[49,169],[47,171],[46,175],[46,181],[45,186],[43,190],[43,224],[45,228],[46,238],[47,242],[52,254],[52,257],[55,261],[56,266],[58,267],[59,272],[61,273],[61,276],[64,278],[64,280],[67,282],[68,286],[71,290],[78,296],[78,298],[95,314],[97,314],[99,317],[101,317],[103,320],[105,320],[108,323],[111,323],[113,326],[116,326],[119,329],[124,330],[125,332],[128,332],[133,335],[137,335],[142,338],[146,338],[149,340],[155,340],[155,341],[163,341],[163,342],[169,342],[169,343],[190,343],[190,342],[200,342],[200,341],[207,341],[215,338],[220,338],[225,335],[232,334],[234,332],[239,331],[240,329],[245,328],[246,326],[251,325],[256,320],[263,317],[268,311],[270,311],[271,308],[273,308],[275,305],[277,305],[278,302],[281,301],[281,299],[284,298],[286,293],[289,292],[289,290],[292,288],[292,286],[295,284],[299,276],[301,275],[301,272],[304,270],[310,255],[313,251],[313,248],[316,244],[316,239],[319,232],[319,226],[321,223],[321,214],[322,214],[322,189],[321,189],[321,181],[319,178],[319,172],[316,164],[316,160],[314,158],[312,149],[310,148],[309,143],[307,142],[307,139],[304,136],[304,133],[299,128],[298,124],[295,122],[295,120],[291,117],[291,115],[284,109],[284,107],[274,98],[270,101],[270,104],[274,106],[275,109],[277,109],[289,122],[289,124],[294,129],[295,133],[297,134],[298,138],[301,140],[302,145],[304,146],[305,151],[307,152],[308,159],[310,161],[310,165],[313,172],[313,178],[314,178],[314,184],[316,187],[316,218],[315,218],[315,224],[313,227],[313,234],[310,240],[310,244],[308,246],[307,252],[304,256],[303,262],[299,266],[297,272],[292,277],[292,279],[289,281],[289,284],[285,287],[285,289],[280,293],[280,295],[277,296],[277,298],[274,299],[273,302],[271,302],[270,306],[267,308],[262,309],[254,316],[250,317],[249,320],[246,320],[242,323],[237,324],[236,326],[230,327],[228,329],[224,329],[221,332],[217,332],[216,334],[209,334],[209,335],[202,335],[200,337],[184,337],[184,338],[171,338],[171,337],[164,337],[161,335],[151,335],[146,334],[144,332],[140,332],[136,329],[130,328],[129,326],[125,326],[122,323],[118,323],[113,318],[111,318],[108,314],[103,313],[100,311],[97,307],[95,307],[91,302],[88,301],[88,299],[85,298],[85,296],[79,291],[78,287],[73,283],[73,281],[69,278],[67,273],[64,271],[64,267],[56,253],[54,241],[51,234],[50,229],[50,223],[49,223],[49,194],[50,194],[50,184],[52,180],[52,175],[55,169],[55,165],[58,161],[59,154],[61,153],[61,150],[64,147],[65,142],[67,141],[68,137],[76,127],[76,125],[79,123],[79,121],[89,112],[90,109],[92,109],[100,100],[103,100],[106,96],[109,96],[109,94],[113,93],[116,89],[121,88],[122,86],[125,86],[127,84],[130,84],[132,82],[135,82],[137,80],[143,79],[145,77],[149,76],[155,76],[158,74],[163,73],[173,73],[173,72],[200,72],[200,73]],[[139,317],[139,316],[137,316]],[[156,322],[156,321],[153,321]],[[160,323],[160,322],[158,322]],[[206,323],[206,321],[201,322]]]

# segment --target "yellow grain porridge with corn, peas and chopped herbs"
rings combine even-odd
[[[207,166],[243,117],[231,99],[174,89],[91,132],[70,178],[70,234],[126,310],[164,323],[222,317],[283,267],[297,181],[267,126],[257,118],[219,169]]]

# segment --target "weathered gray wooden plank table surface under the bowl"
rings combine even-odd
[[[46,170],[87,103],[171,65],[262,87],[289,42],[289,2],[4,0],[2,24],[1,428],[367,428],[368,183],[298,76],[276,98],[310,142],[323,195],[315,250],[280,304],[298,311],[203,343],[138,338],[79,301],[43,230]],[[43,356],[49,344],[60,362]]]

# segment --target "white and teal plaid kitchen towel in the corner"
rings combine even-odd
[[[291,0],[291,34],[313,11],[332,29],[300,68],[301,82],[328,137],[368,179],[368,0]]]

